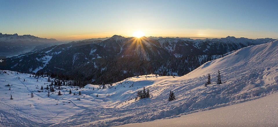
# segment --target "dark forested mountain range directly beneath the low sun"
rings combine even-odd
[[[182,76],[231,51],[273,40],[228,36],[189,41],[185,38],[125,38],[114,35],[106,40],[84,40],[34,50],[8,58],[8,66],[1,69],[52,72],[60,78],[82,78],[97,84],[151,73]]]

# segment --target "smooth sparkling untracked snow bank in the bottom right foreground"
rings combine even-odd
[[[229,127],[278,126],[278,93],[263,98],[208,111],[182,115],[173,119],[125,124],[121,127]]]

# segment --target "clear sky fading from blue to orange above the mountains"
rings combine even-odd
[[[277,0],[0,0],[0,32],[61,41],[121,35],[278,38]]]

